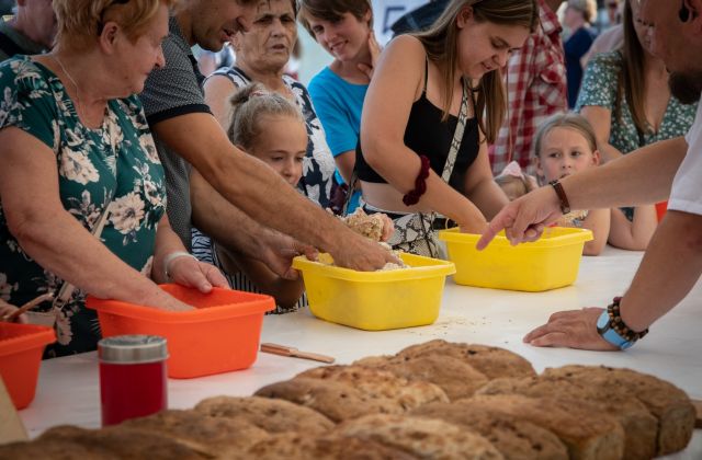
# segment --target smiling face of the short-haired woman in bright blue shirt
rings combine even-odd
[[[346,12],[339,21],[333,22],[309,18],[309,28],[315,34],[317,43],[335,59],[341,62],[351,61],[370,53],[371,12],[366,15],[367,19],[358,20],[350,12]]]

